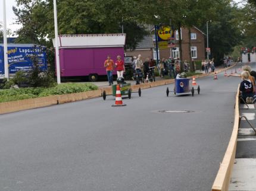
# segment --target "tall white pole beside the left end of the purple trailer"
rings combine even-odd
[[[60,75],[60,53],[58,44],[58,20],[57,20],[57,3],[54,0],[54,31],[55,31],[55,59],[56,59],[56,70],[57,70],[57,83],[61,83]]]

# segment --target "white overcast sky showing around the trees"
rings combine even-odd
[[[235,2],[241,2],[241,1],[244,1],[244,0],[235,0]],[[0,0],[0,22],[3,21],[2,3],[3,3],[3,0]],[[21,26],[17,24],[13,24],[15,22],[15,15],[12,8],[13,6],[14,7],[16,6],[15,0],[6,0],[7,28],[10,28],[12,31],[15,31]]]

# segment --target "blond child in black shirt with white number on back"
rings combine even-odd
[[[243,71],[241,73],[242,77],[242,82],[240,84],[240,91],[242,94],[243,100],[246,100],[246,103],[252,103],[253,100],[253,85],[251,80],[249,80],[249,72],[248,71]]]

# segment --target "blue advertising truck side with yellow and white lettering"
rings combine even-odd
[[[35,44],[14,44],[7,45],[8,68],[10,77],[17,71],[29,72],[33,68],[31,56],[35,56],[40,69],[47,69],[45,47]],[[0,44],[0,78],[4,78],[4,44]]]

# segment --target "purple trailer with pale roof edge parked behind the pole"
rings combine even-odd
[[[74,34],[58,37],[61,77],[89,77],[97,81],[107,75],[104,61],[110,55],[124,59],[126,34]],[[55,47],[55,39],[52,40]],[[116,72],[114,72],[116,74]]]

